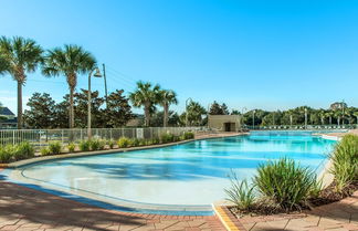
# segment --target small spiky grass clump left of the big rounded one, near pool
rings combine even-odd
[[[251,210],[255,203],[254,186],[249,187],[246,180],[240,181],[235,172],[230,176],[231,187],[225,189],[229,201],[240,210]]]

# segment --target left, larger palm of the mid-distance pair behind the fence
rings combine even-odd
[[[135,107],[144,106],[145,111],[145,125],[149,126],[150,123],[150,108],[158,103],[160,86],[152,85],[147,82],[137,82],[135,92],[129,93],[129,99]]]

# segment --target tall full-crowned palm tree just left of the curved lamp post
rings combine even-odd
[[[95,57],[78,45],[65,45],[48,51],[42,73],[45,76],[63,74],[70,88],[70,128],[74,127],[73,95],[77,85],[77,75],[91,72],[96,65]]]

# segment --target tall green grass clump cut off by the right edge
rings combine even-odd
[[[344,136],[330,154],[330,160],[336,191],[343,192],[346,186],[358,180],[358,136]]]

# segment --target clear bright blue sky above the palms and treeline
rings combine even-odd
[[[0,35],[80,44],[106,63],[109,91],[159,83],[177,92],[178,111],[188,97],[239,109],[358,106],[358,1],[0,0]],[[28,77],[24,101],[69,92],[63,76]],[[103,94],[103,80],[93,88]],[[13,111],[15,90],[0,77]]]

